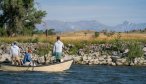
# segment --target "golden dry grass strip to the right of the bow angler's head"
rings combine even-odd
[[[80,34],[70,34],[70,35],[62,35],[62,39],[64,40],[113,40],[117,37],[118,33],[113,36],[106,36],[103,33],[100,33],[99,37],[95,38],[94,33],[89,33],[86,36],[83,33]],[[137,34],[137,33],[121,33],[121,39],[146,39],[146,34]]]

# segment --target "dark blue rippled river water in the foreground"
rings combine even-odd
[[[0,71],[0,84],[146,84],[146,67],[73,65],[60,73]]]

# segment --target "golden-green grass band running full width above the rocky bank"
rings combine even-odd
[[[116,39],[120,39],[122,41],[136,41],[146,43],[146,34],[138,34],[138,33],[116,33],[112,36],[106,36],[104,34],[100,34],[98,37],[94,36],[94,33],[87,33],[86,35],[83,32],[80,33],[64,33],[61,34],[61,39],[65,44],[72,43],[82,43],[87,42],[90,44],[94,43],[113,43]],[[34,35],[34,36],[17,36],[17,37],[1,37],[0,42],[12,43],[14,41],[18,41],[21,43],[37,43],[37,42],[50,42],[53,43],[56,40],[56,35],[53,36],[45,36],[45,35]]]

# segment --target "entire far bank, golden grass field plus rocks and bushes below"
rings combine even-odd
[[[144,49],[146,34],[115,33],[105,35],[88,32],[71,32],[59,34],[65,44],[63,58],[73,58],[74,64],[126,65],[146,66]],[[22,51],[32,48],[33,59],[39,63],[50,63],[52,47],[56,35],[34,35],[0,38],[0,61],[10,60],[9,47],[18,42]],[[23,57],[23,53],[22,56]]]

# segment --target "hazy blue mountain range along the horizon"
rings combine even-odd
[[[96,20],[91,21],[76,21],[76,22],[63,22],[58,20],[46,20],[44,23],[36,25],[38,29],[55,29],[57,32],[68,32],[68,31],[79,31],[79,30],[94,30],[94,31],[117,31],[124,32],[130,30],[144,29],[146,28],[146,23],[130,23],[124,21],[122,24],[116,26],[108,26],[102,24]]]

